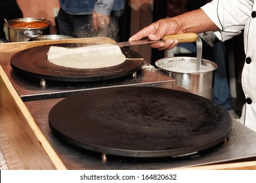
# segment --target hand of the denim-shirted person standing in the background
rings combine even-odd
[[[93,27],[95,31],[104,29],[110,24],[110,16],[100,14],[98,12],[93,12]]]

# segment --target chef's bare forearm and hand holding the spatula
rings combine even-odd
[[[202,33],[205,31],[218,30],[218,27],[209,19],[202,9],[186,12],[173,18],[165,18],[154,22],[138,33],[133,35],[129,41],[136,41],[143,37],[151,40],[159,40],[164,35],[173,35],[178,33]],[[150,44],[152,48],[159,50],[168,50],[177,46],[177,40],[167,40]]]

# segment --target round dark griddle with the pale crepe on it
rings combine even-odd
[[[66,48],[75,48],[87,45],[88,44],[81,43],[54,44],[54,46],[62,46]],[[136,52],[127,48],[121,48],[127,59],[119,65],[113,67],[102,67],[99,69],[74,69],[55,65],[48,61],[47,52],[49,51],[50,46],[53,45],[37,46],[17,52],[11,58],[12,68],[24,75],[40,79],[89,82],[132,75],[141,69],[144,61],[144,59],[142,59],[142,57]]]

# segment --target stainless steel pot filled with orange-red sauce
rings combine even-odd
[[[22,26],[22,23],[27,26]],[[30,26],[41,23],[38,26]],[[17,18],[5,22],[9,42],[24,42],[40,35],[49,35],[53,23],[45,18]],[[17,26],[20,25],[20,26]]]

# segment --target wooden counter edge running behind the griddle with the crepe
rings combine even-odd
[[[18,52],[27,48],[35,46],[44,46],[49,44],[62,44],[62,43],[96,43],[107,44],[116,43],[113,39],[108,37],[89,37],[89,38],[75,38],[75,39],[57,39],[57,40],[45,40],[45,41],[27,41],[27,42],[6,42],[0,43],[1,52]]]

